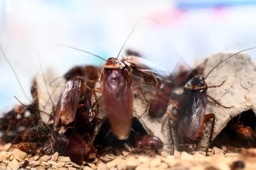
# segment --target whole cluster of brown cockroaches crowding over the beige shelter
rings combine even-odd
[[[119,54],[120,52],[121,50]],[[138,53],[128,52],[136,54],[137,57],[123,57],[121,61],[117,58],[105,60],[90,53],[106,61],[102,66],[101,74],[101,69],[94,66],[74,67],[69,70],[64,75],[65,86],[56,107],[53,107],[47,125],[40,120],[39,113],[43,111],[38,108],[36,84],[34,83],[31,90],[33,103],[29,106],[19,106],[4,114],[4,117],[0,119],[0,131],[3,133],[2,141],[16,144],[14,147],[24,151],[35,152],[38,148],[43,148],[42,152],[46,154],[57,151],[60,155],[69,156],[72,161],[82,164],[84,160],[94,159],[97,155],[97,149],[91,142],[93,130],[101,121],[97,117],[100,106],[96,93],[102,93],[111,131],[119,140],[126,140],[132,130],[133,91],[139,90],[147,103],[146,111],[148,110],[150,117],[161,118],[167,114],[162,123],[162,132],[163,126],[168,120],[172,151],[174,151],[174,141],[171,120],[177,122],[180,149],[190,152],[196,147],[201,147],[199,144],[204,136],[205,121],[212,118],[210,145],[215,116],[213,113],[205,115],[207,98],[224,108],[231,108],[232,106],[223,106],[207,94],[208,88],[219,87],[224,82],[218,86],[208,86],[205,79],[220,63],[235,54],[220,62],[206,77],[203,77],[200,75],[203,72],[203,67],[191,71],[181,71],[182,69],[180,69],[178,72],[170,73],[151,61],[138,57]],[[134,76],[140,77],[142,81],[135,81]],[[95,88],[95,83],[99,77],[101,87]],[[133,83],[153,85],[156,94],[154,95],[152,91],[143,92],[140,86],[134,86]],[[173,89],[182,86],[184,92],[180,101],[172,100]],[[152,96],[153,99],[148,100],[146,94]],[[95,102],[92,102],[92,96],[94,96]],[[174,116],[167,111],[170,104],[174,107],[173,113],[176,114]],[[40,128],[39,125],[45,128]],[[234,128],[240,128],[240,126],[234,125]],[[241,131],[241,134],[244,134],[243,132]],[[135,135],[132,143],[134,147],[154,150],[163,148],[164,144],[158,137],[145,134]],[[209,146],[206,152],[208,149]]]

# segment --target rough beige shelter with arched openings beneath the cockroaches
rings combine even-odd
[[[217,53],[214,54],[209,60],[206,62],[205,70],[202,76],[206,76],[209,71],[215,67],[218,63],[220,63],[222,60],[226,59],[227,57],[231,56],[231,53]],[[220,133],[220,131],[226,127],[228,121],[230,120],[230,115],[232,117],[237,116],[237,114],[240,114],[243,111],[252,109],[256,110],[255,108],[255,102],[256,101],[256,86],[253,84],[256,84],[256,66],[250,59],[248,54],[239,53],[236,54],[234,57],[226,60],[225,62],[221,63],[216,69],[214,69],[207,79],[205,80],[208,85],[219,85],[224,80],[222,86],[217,88],[209,88],[207,94],[215,98],[216,100],[220,101],[224,106],[234,106],[230,109],[218,107],[215,103],[212,101],[207,102],[207,107],[205,114],[209,113],[215,113],[216,116],[216,123],[215,123],[215,129],[213,132],[213,139]],[[49,75],[48,75],[49,74]],[[49,69],[48,72],[45,74],[48,80],[53,80],[54,78],[58,76],[54,76],[54,74]],[[41,80],[40,76],[38,76],[37,81]],[[56,81],[57,83],[57,81]],[[241,83],[243,83],[243,87],[241,86]],[[46,84],[49,84],[47,82]],[[140,85],[140,84],[139,84]],[[40,99],[40,96],[47,96],[46,91],[44,90],[45,87],[43,87],[44,84],[40,83],[39,90],[39,103],[40,103],[40,109],[45,105],[45,101],[47,99]],[[100,87],[100,82],[96,83],[95,88]],[[143,88],[143,91],[150,90],[153,93],[155,93],[154,87],[145,87],[141,86]],[[50,87],[48,87],[50,89]],[[54,89],[53,87],[51,87]],[[61,90],[61,88],[58,88]],[[55,95],[52,97],[54,98],[54,102],[57,101],[60,90],[56,92]],[[40,95],[42,93],[42,95]],[[51,90],[50,90],[51,93]],[[159,118],[158,122],[156,119],[150,118],[148,113],[144,114],[142,117],[140,117],[146,108],[145,101],[142,100],[142,97],[140,96],[139,92],[137,90],[134,91],[134,95],[138,96],[134,98],[134,117],[138,118],[138,121],[141,123],[141,125],[144,127],[144,129],[147,131],[148,134],[155,135],[159,137],[164,142],[163,149],[159,149],[158,151],[164,151],[167,153],[172,153],[172,147],[170,139],[170,134],[168,132],[168,123],[166,122],[163,131],[163,135],[161,133],[161,123],[163,122],[166,115],[164,115],[162,118]],[[103,101],[101,100],[101,94],[97,94],[97,97],[99,99],[99,104],[101,105],[99,110],[99,118],[102,120],[106,119],[106,110],[104,108]],[[149,96],[148,96],[149,98]],[[151,97],[150,97],[151,98]],[[56,100],[55,100],[56,99]],[[42,101],[42,102],[41,102]],[[42,104],[41,104],[42,103]],[[51,110],[51,106],[47,106],[48,110]],[[169,112],[172,112],[172,105],[170,105],[167,109]],[[51,112],[51,111],[46,111]],[[225,114],[223,114],[225,113]],[[42,113],[41,113],[42,114]],[[101,121],[101,123],[98,125],[99,129],[104,121]],[[204,137],[200,143],[201,146],[207,146],[210,132],[211,132],[211,122],[212,120],[207,121],[206,128],[205,128],[205,134]],[[172,124],[174,125],[173,121]],[[173,129],[174,132],[174,129]],[[92,141],[95,139],[95,136],[98,133],[98,128],[95,128],[95,133],[92,135]],[[179,141],[175,137],[175,133],[173,133],[173,137],[175,141]],[[208,136],[208,137],[207,137]],[[177,143],[175,143],[174,150],[177,150]],[[205,150],[205,148],[201,148],[200,150]],[[177,154],[177,152],[176,152]]]

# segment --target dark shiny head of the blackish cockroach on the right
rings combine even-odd
[[[203,76],[195,76],[188,83],[186,83],[184,90],[185,91],[194,91],[194,92],[203,92],[208,88],[207,83],[205,82]]]

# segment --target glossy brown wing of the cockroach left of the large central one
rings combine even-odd
[[[66,82],[57,102],[54,130],[58,124],[69,124],[75,120],[80,97],[81,80],[71,79]]]

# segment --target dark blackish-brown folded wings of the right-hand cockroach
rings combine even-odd
[[[200,92],[185,91],[178,112],[180,137],[195,139],[202,124],[207,95]]]

